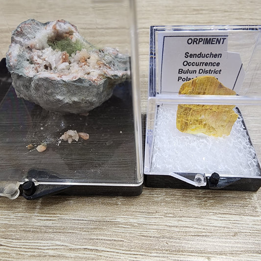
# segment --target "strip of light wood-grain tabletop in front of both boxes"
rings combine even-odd
[[[1,260],[258,260],[260,193],[0,200]],[[11,204],[11,205],[10,205]]]

